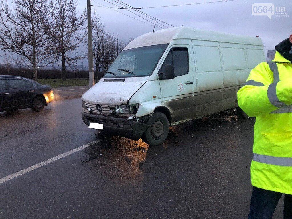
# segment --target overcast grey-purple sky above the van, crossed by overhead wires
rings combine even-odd
[[[112,0],[107,0],[113,2]],[[117,1],[117,0],[115,0]],[[123,2],[133,7],[152,7],[152,6],[166,6],[174,4],[191,4],[200,2],[209,2],[216,0],[147,0],[147,1],[134,1],[123,0]],[[141,11],[152,15],[159,20],[163,20],[173,26],[189,26],[201,29],[215,30],[227,33],[234,33],[246,36],[259,35],[264,43],[264,46],[275,46],[282,40],[288,38],[292,33],[292,1],[264,1],[272,3],[277,8],[285,7],[288,17],[277,17],[276,14],[272,19],[267,16],[254,16],[252,15],[252,4],[262,3],[263,1],[256,0],[235,0],[229,2],[217,2],[208,4],[197,4],[189,6],[174,6],[163,8],[149,8],[140,9]],[[104,0],[91,0],[94,6],[100,6],[98,3],[105,6],[116,7]],[[118,4],[113,2],[114,4]],[[86,10],[86,0],[79,1],[79,11]],[[107,32],[111,34],[118,34],[119,39],[127,41],[129,38],[135,38],[141,34],[151,32],[153,26],[147,25],[133,18],[127,17],[121,13],[113,11],[110,8],[92,7],[92,11],[98,13],[101,21],[105,25]],[[127,10],[114,9],[122,13],[133,16],[139,20],[143,20],[138,16],[130,13]],[[147,21],[145,21],[147,22]],[[272,49],[273,47],[265,47]]]

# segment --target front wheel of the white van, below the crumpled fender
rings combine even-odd
[[[165,114],[156,112],[147,121],[149,128],[142,136],[142,140],[151,146],[161,145],[167,138],[169,122]]]

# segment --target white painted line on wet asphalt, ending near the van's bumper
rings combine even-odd
[[[46,164],[52,163],[52,162],[54,162],[54,161],[56,161],[56,160],[58,160],[58,159],[61,159],[61,158],[63,158],[63,157],[66,157],[66,156],[68,156],[68,155],[70,155],[70,154],[73,154],[73,153],[75,153],[75,152],[77,152],[77,151],[80,151],[80,150],[82,150],[82,149],[84,149],[84,148],[86,148],[86,147],[89,147],[89,146],[94,145],[94,144],[96,144],[96,143],[98,143],[98,142],[101,142],[101,141],[102,141],[102,140],[96,140],[96,141],[90,142],[90,143],[88,143],[88,144],[86,144],[86,145],[82,145],[82,146],[80,146],[80,147],[74,148],[73,150],[70,150],[70,151],[65,152],[65,153],[63,153],[63,154],[60,154],[60,155],[58,155],[58,156],[56,156],[56,157],[52,157],[52,158],[50,158],[50,159],[48,159],[48,160],[45,160],[45,161],[43,161],[43,162],[40,162],[40,163],[38,163],[38,164],[35,164],[35,165],[33,165],[33,166],[30,166],[30,167],[28,167],[28,168],[25,168],[25,169],[23,169],[23,170],[20,170],[20,171],[18,171],[18,172],[16,172],[16,173],[13,173],[13,174],[11,174],[11,175],[8,175],[8,176],[6,176],[6,177],[0,179],[0,184],[6,182],[6,181],[8,181],[8,180],[12,180],[13,178],[18,177],[18,176],[20,176],[20,175],[22,175],[22,174],[28,173],[28,172],[30,172],[30,171],[32,171],[32,170],[35,170],[36,168],[39,168],[39,167],[42,167],[42,166],[44,166],[44,165],[46,165]]]

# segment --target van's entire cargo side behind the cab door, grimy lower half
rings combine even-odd
[[[263,46],[192,40],[197,78],[197,118],[237,107],[237,91],[265,60]]]

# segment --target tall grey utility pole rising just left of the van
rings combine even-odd
[[[87,0],[87,30],[88,30],[88,77],[89,86],[93,86],[94,82],[94,69],[93,69],[93,50],[92,50],[92,29],[91,29],[91,2]]]

